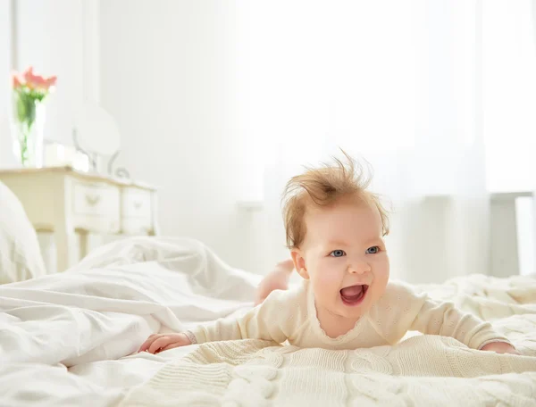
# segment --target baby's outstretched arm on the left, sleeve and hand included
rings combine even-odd
[[[139,347],[138,352],[159,353],[169,349],[204,342],[256,338],[282,343],[287,339],[290,315],[296,311],[294,293],[273,291],[264,303],[239,318],[222,318],[187,332],[155,334]]]

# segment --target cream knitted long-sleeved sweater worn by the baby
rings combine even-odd
[[[357,349],[395,345],[407,331],[451,336],[473,349],[490,342],[508,342],[490,325],[459,311],[454,303],[433,301],[412,287],[389,282],[384,295],[353,329],[327,336],[316,317],[314,294],[308,280],[297,289],[274,291],[264,303],[240,318],[225,318],[191,331],[194,343],[263,339],[302,348]],[[190,337],[192,337],[190,335]]]

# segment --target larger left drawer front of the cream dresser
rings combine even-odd
[[[119,188],[102,184],[75,184],[75,215],[105,216],[119,213]]]

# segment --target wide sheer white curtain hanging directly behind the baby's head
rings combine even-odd
[[[239,26],[241,112],[267,205],[259,256],[286,255],[284,182],[341,147],[371,162],[373,189],[393,205],[394,277],[488,272],[478,7],[285,0],[240,8],[248,21]]]

